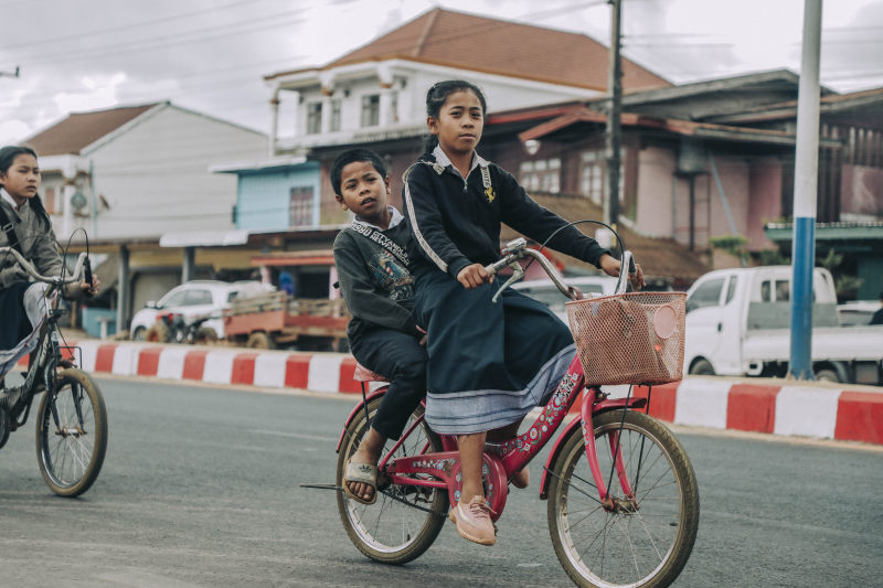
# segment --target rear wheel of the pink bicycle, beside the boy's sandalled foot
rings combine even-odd
[[[382,396],[379,396],[368,403],[372,418],[377,411]],[[405,425],[405,431],[421,415],[423,407],[418,406]],[[347,427],[337,466],[337,484],[340,488],[343,487],[347,461],[355,452],[368,430],[365,425],[364,410],[359,410]],[[442,451],[440,439],[424,421],[414,429],[395,455],[415,455],[423,450],[427,441],[429,452]],[[394,441],[387,440],[383,455],[386,455],[393,445]],[[338,492],[340,520],[350,541],[364,555],[383,564],[405,564],[423,555],[445,525],[445,514],[448,511],[447,491],[396,484],[379,485],[377,500],[371,505],[361,504],[344,492]],[[433,512],[418,510],[409,504]]]

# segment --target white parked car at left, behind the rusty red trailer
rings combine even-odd
[[[147,306],[131,318],[131,339],[143,341],[148,330],[160,316],[181,316],[189,323],[209,317],[200,325],[211,329],[215,338],[224,336],[223,311],[230,302],[241,295],[254,295],[274,290],[274,287],[259,281],[217,281],[192,280],[175,286],[159,301],[149,301]],[[204,331],[208,332],[208,331]]]

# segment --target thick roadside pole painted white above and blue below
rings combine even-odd
[[[788,375],[812,379],[812,267],[816,265],[816,199],[819,173],[819,53],[821,1],[804,3],[804,46],[797,94],[791,355]]]

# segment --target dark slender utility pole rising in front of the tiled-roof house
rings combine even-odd
[[[616,228],[619,220],[619,120],[623,114],[623,72],[619,63],[621,0],[607,0],[610,4],[610,65],[607,73],[607,92],[610,105],[607,110],[607,190],[604,194],[604,222]]]

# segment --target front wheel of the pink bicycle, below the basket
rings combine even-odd
[[[602,413],[595,418],[594,435],[604,481],[610,480],[609,493],[623,501],[623,512],[602,507],[582,430],[575,429],[551,470],[552,544],[577,586],[669,586],[687,564],[699,528],[693,467],[667,427],[627,410],[619,447],[637,504],[628,501],[617,475],[609,478],[609,436],[620,423],[623,410]]]

